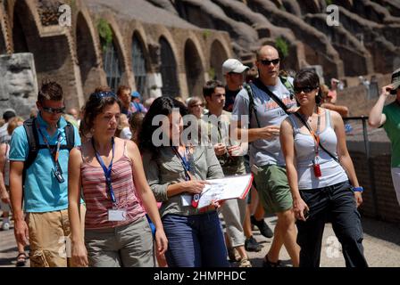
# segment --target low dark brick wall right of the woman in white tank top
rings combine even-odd
[[[359,183],[364,187],[363,203],[360,212],[363,216],[378,217],[387,222],[400,222],[400,207],[390,172],[390,154],[371,157],[373,174],[369,172],[369,163],[363,152],[350,151]],[[376,186],[377,215],[374,210],[374,199],[371,181]]]

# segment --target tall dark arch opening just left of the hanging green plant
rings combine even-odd
[[[82,12],[78,13],[76,20],[76,48],[80,70],[83,93],[86,98],[99,85],[100,74],[98,70],[98,58],[96,45],[92,37],[88,21]]]

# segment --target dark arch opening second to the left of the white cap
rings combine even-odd
[[[192,38],[188,38],[185,43],[184,61],[188,95],[201,96],[204,85],[204,61],[200,49]]]

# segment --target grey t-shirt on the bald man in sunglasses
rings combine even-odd
[[[288,80],[293,84],[293,78],[288,77]],[[287,114],[279,105],[268,95],[265,94],[253,83],[250,84],[253,90],[254,107],[256,108],[257,118],[260,122],[260,127],[263,126],[280,126],[282,121],[287,118]],[[267,86],[271,92],[279,97],[279,99],[287,105],[287,108],[296,106],[295,98],[290,99],[290,93],[279,80],[278,85]],[[233,105],[232,120],[240,120],[241,116],[249,114],[249,98],[246,88],[243,88],[237,94],[235,104]],[[242,126],[245,127],[245,126]],[[257,128],[257,121],[254,112],[251,116],[251,128]],[[250,143],[250,165],[255,164],[258,167],[265,165],[285,165],[285,159],[280,150],[279,136],[271,140],[256,140]]]

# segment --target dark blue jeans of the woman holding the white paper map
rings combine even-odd
[[[216,211],[193,216],[165,215],[162,225],[168,238],[168,266],[229,267]]]

